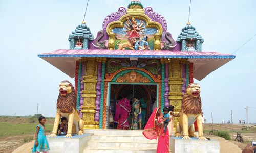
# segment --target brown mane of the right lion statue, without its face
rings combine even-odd
[[[202,112],[202,103],[201,97],[198,95],[197,98],[194,98],[191,95],[187,94],[187,89],[182,98],[181,108],[184,114],[201,114]]]

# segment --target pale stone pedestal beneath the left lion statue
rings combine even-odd
[[[73,134],[72,134],[73,135]],[[57,137],[49,137],[47,136],[47,141],[49,143],[51,152],[59,152],[59,153],[81,153],[83,152],[83,148],[87,147],[87,142],[91,140],[92,134],[84,134],[84,135],[74,135],[72,138],[66,138],[64,136]]]

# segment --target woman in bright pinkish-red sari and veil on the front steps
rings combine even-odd
[[[169,132],[168,129],[164,136],[164,121],[167,118],[163,118],[163,114],[161,113],[160,108],[155,108],[153,113],[151,114],[150,118],[148,119],[146,126],[143,130],[143,135],[147,139],[157,139],[157,153],[166,153],[169,152]]]

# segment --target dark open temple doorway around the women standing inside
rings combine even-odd
[[[153,112],[154,102],[156,103],[154,106],[157,107],[157,97],[158,97],[158,85],[157,84],[111,84],[110,85],[110,101],[109,106],[111,109],[111,113],[115,122],[110,123],[110,129],[117,129],[118,124],[118,116],[116,117],[116,106],[118,105],[117,100],[118,97],[127,97],[130,100],[130,104],[133,104],[133,97],[136,97],[138,100],[143,99],[144,103],[146,103],[147,107],[143,110],[146,111],[145,114],[145,123],[147,119]],[[133,107],[132,107],[133,108]],[[130,114],[133,114],[133,109]],[[116,119],[115,119],[116,117]],[[144,127],[145,123],[142,125]]]

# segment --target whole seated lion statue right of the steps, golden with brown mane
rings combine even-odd
[[[191,139],[190,137],[198,138],[200,140],[207,140],[203,136],[202,124],[202,103],[200,97],[200,84],[191,83],[187,86],[185,94],[182,99],[180,120],[177,122],[175,137],[182,137],[182,139]],[[196,135],[194,122],[197,121],[198,135]]]

